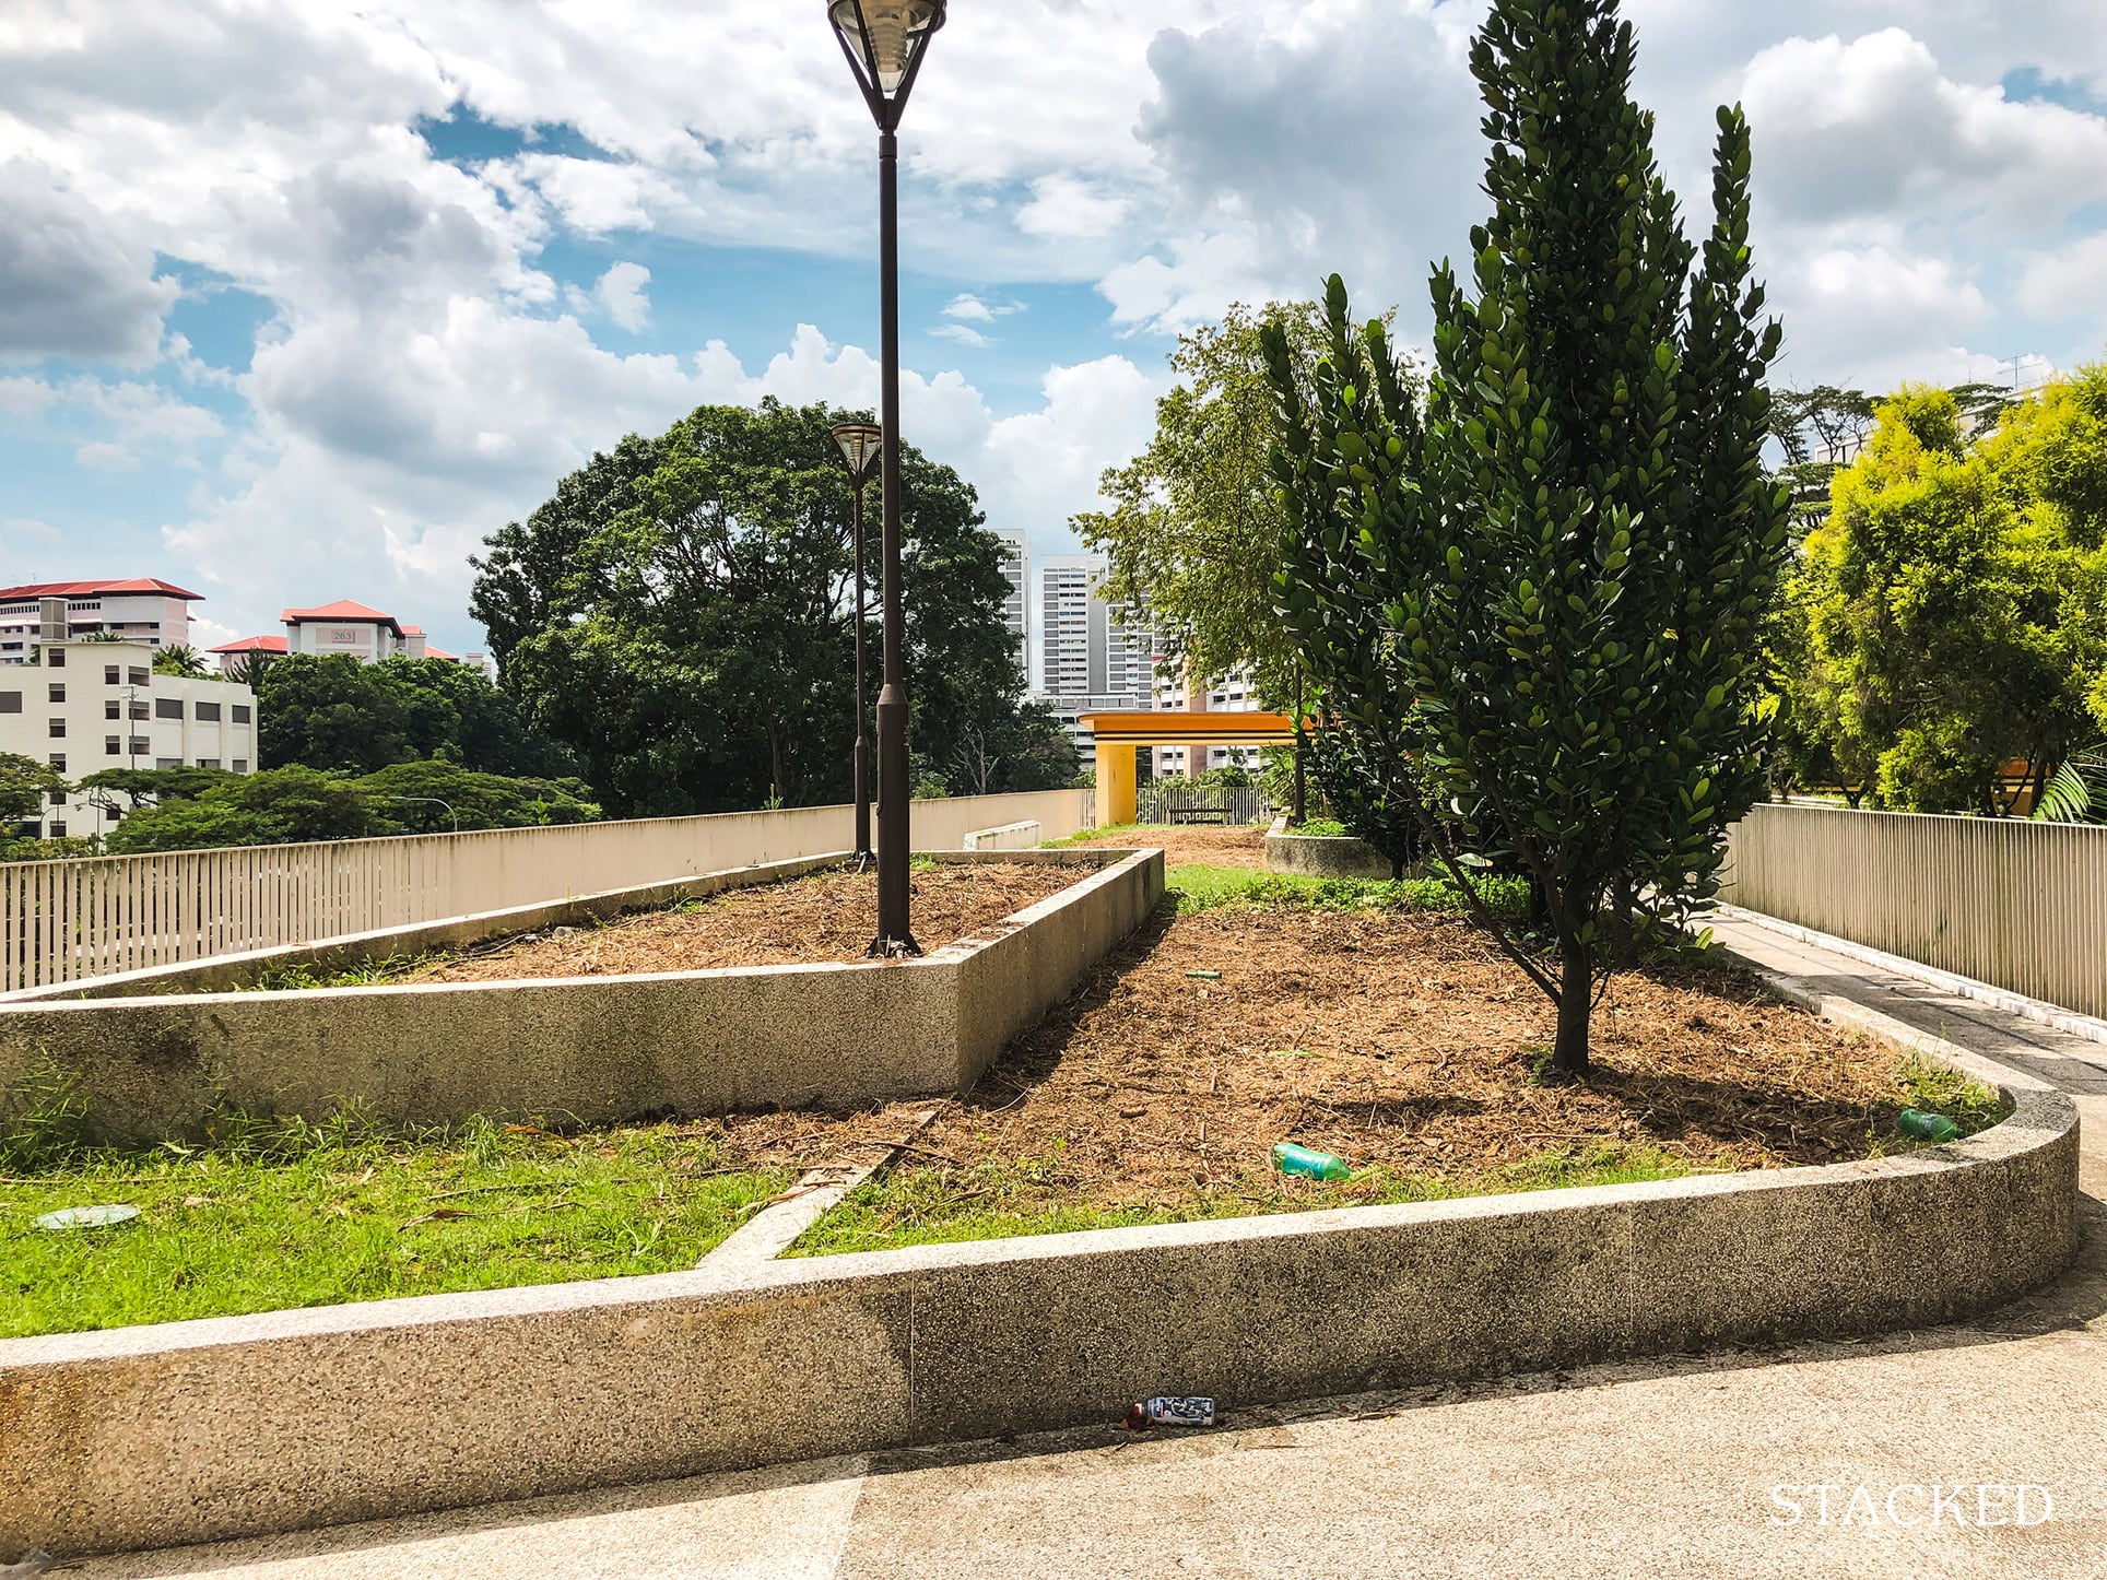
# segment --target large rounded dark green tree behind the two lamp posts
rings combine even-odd
[[[472,609],[506,687],[617,813],[849,798],[851,514],[828,430],[851,415],[702,407],[596,455],[487,539]],[[1062,773],[1043,725],[1018,720],[1009,581],[973,489],[912,447],[900,466],[910,739],[925,777],[978,784],[992,763],[986,782],[1001,790],[1007,773]],[[877,489],[866,544],[874,702]]]

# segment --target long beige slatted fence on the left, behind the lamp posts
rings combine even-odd
[[[914,847],[1091,824],[1089,790],[917,801]],[[634,889],[853,845],[851,807],[0,864],[0,992]]]

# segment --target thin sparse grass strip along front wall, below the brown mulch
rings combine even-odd
[[[1450,1201],[1519,1190],[1677,1180],[1692,1167],[1650,1146],[1551,1148],[1519,1163],[1460,1176],[1359,1169],[1348,1180],[1319,1184],[1277,1173],[1239,1173],[1224,1188],[1176,1207],[1058,1205],[1062,1159],[990,1159],[965,1169],[895,1169],[858,1186],[813,1224],[786,1256],[841,1256],[902,1245],[948,1245],[1022,1235],[1066,1235],[1085,1228],[1195,1224],[1218,1218],[1376,1207],[1405,1201]]]

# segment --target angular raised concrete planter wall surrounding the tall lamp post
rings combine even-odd
[[[390,1123],[438,1125],[470,1114],[609,1123],[957,1091],[1148,916],[1163,893],[1163,855],[936,860],[1072,866],[1079,883],[906,963],[11,1003],[0,1005],[0,1089],[51,1060],[74,1074],[97,1131],[131,1142],[196,1135],[223,1108],[322,1119],[346,1098]],[[489,921],[453,927],[510,931]],[[358,948],[386,956],[411,937],[428,944],[432,927],[375,933]],[[240,969],[221,961],[204,973]]]

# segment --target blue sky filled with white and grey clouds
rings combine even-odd
[[[1686,209],[1755,131],[1791,386],[2107,354],[2101,0],[1627,0]],[[1180,329],[1426,333],[1483,217],[1483,0],[952,0],[902,129],[904,434],[1039,554]],[[706,402],[877,402],[874,131],[824,0],[0,4],[0,584],[158,575],[200,645],[468,556]]]

